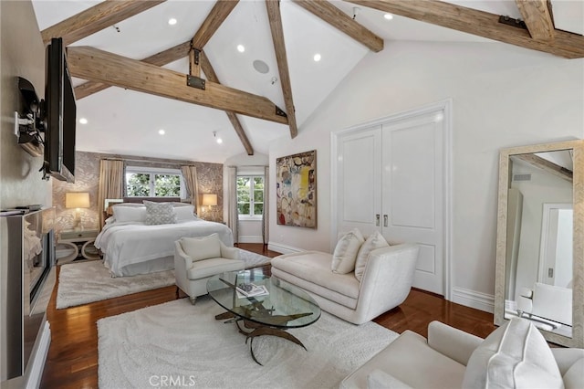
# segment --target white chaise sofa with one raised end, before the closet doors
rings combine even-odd
[[[361,324],[391,310],[410,294],[419,247],[400,244],[370,251],[359,280],[355,271],[331,271],[333,255],[320,251],[272,259],[272,275],[306,290],[322,310]]]

